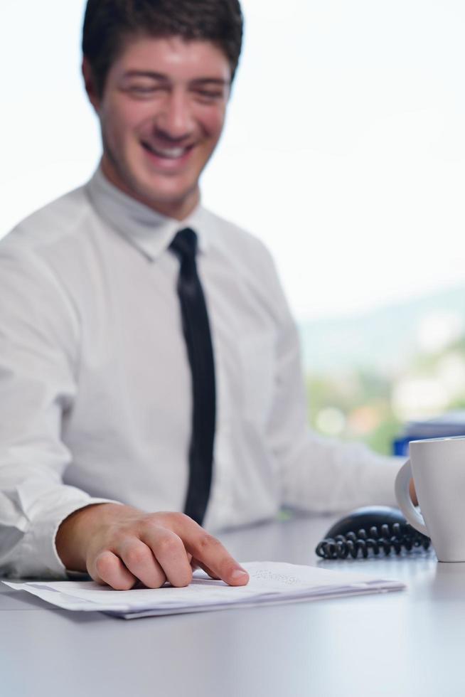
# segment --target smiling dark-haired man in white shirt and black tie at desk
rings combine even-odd
[[[237,0],[87,4],[100,168],[0,245],[4,574],[243,585],[199,523],[393,502],[397,463],[309,432],[272,261],[200,205],[241,40]]]

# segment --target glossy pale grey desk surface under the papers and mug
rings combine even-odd
[[[221,539],[242,561],[315,565],[331,522],[298,518]],[[0,694],[463,697],[465,564],[438,564],[430,551],[321,565],[408,590],[124,621],[0,586]]]

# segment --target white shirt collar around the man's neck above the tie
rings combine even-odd
[[[149,259],[159,257],[169,247],[178,230],[183,228],[196,231],[201,253],[208,249],[207,216],[202,206],[197,206],[185,220],[166,218],[120,191],[108,181],[100,168],[86,188],[98,215]]]

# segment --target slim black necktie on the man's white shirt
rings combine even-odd
[[[184,513],[201,524],[210,494],[213,441],[215,440],[215,364],[208,312],[197,274],[197,235],[180,230],[170,249],[181,262],[178,296],[184,339],[192,373],[192,434],[189,449],[189,483]]]

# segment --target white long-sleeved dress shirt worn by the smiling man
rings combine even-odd
[[[167,248],[186,226],[217,383],[205,527],[283,505],[394,504],[398,462],[309,430],[296,329],[262,243],[201,206],[164,218],[97,171],[0,243],[0,573],[63,577],[55,533],[92,502],[183,509],[191,373]]]

